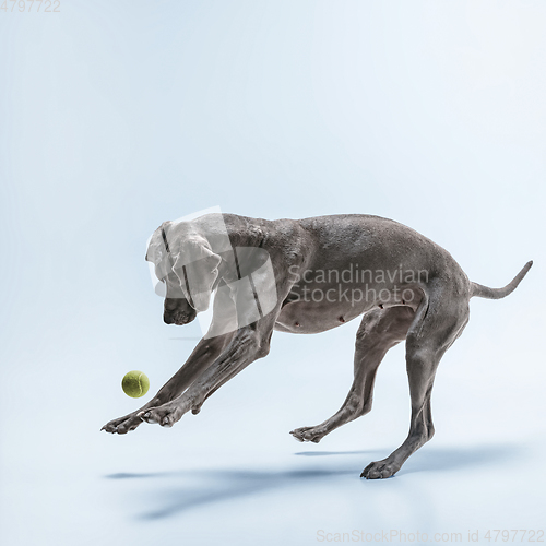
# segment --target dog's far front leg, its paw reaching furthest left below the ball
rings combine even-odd
[[[147,404],[123,417],[110,420],[100,430],[117,432],[118,435],[134,430],[142,423],[142,419],[138,416],[139,413],[151,407],[161,406],[180,395],[222,354],[232,335],[225,334],[201,340],[186,364],[159,389]]]

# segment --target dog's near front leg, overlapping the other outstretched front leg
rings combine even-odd
[[[162,406],[140,412],[139,417],[146,423],[171,427],[190,410],[199,413],[209,394],[249,364],[269,353],[271,331],[271,319],[262,319],[258,323],[239,329],[222,355],[191,383],[186,392]]]

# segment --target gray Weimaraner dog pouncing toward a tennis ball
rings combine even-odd
[[[290,434],[319,442],[368,413],[376,371],[405,340],[410,434],[361,476],[387,478],[434,435],[430,394],[438,364],[468,322],[473,296],[499,299],[515,289],[533,262],[503,288],[473,283],[451,254],[417,232],[370,215],[256,219],[206,214],[165,222],[146,260],[165,288],[164,321],[187,324],[207,309],[213,319],[188,361],[140,410],[103,428],[126,434],[142,422],[173,426],[250,363],[268,355],[273,330],[312,334],[364,316],[356,334],[354,381],[337,413]]]

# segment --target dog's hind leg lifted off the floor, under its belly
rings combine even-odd
[[[371,410],[377,369],[387,352],[405,340],[414,317],[410,307],[373,309],[364,316],[356,333],[354,381],[345,402],[324,423],[292,430],[296,440],[318,443],[332,430]]]

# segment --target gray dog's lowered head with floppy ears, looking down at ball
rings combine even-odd
[[[150,240],[146,260],[166,285],[164,321],[187,324],[206,311],[222,258],[190,223],[165,222]]]

